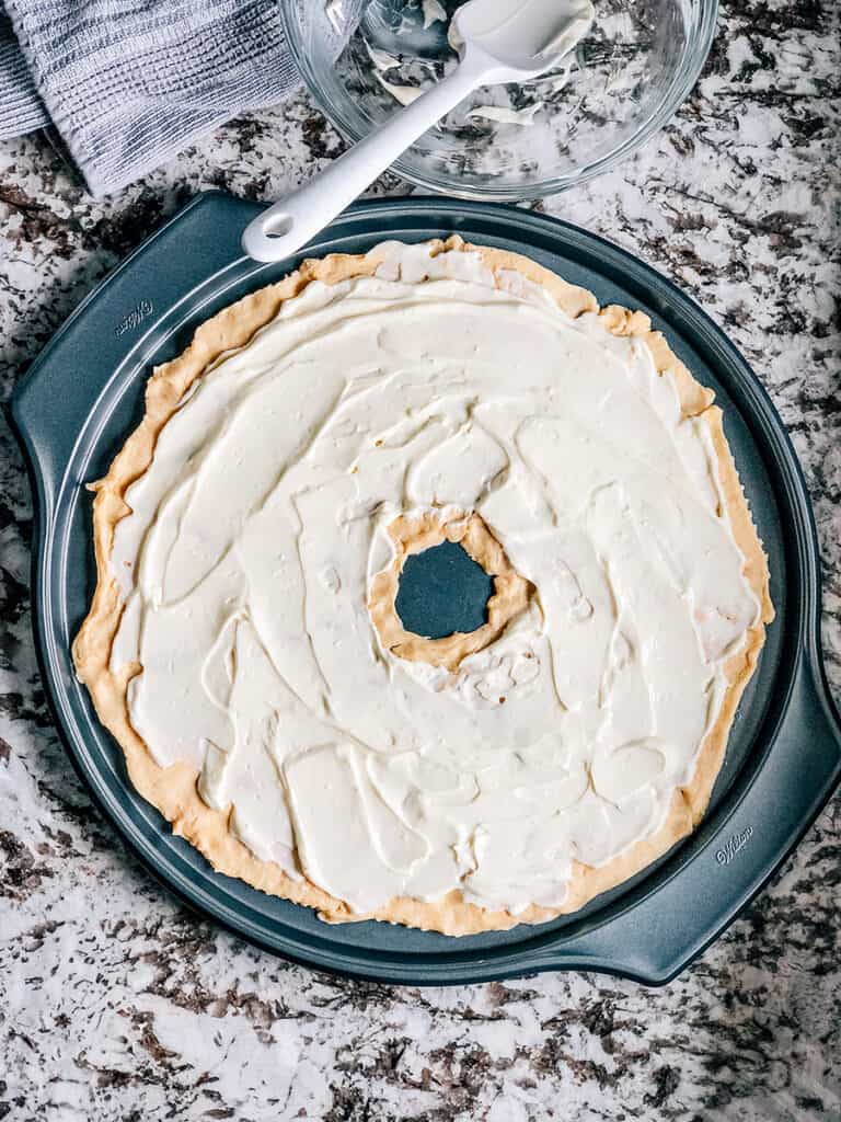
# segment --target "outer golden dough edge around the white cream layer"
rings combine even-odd
[[[460,892],[453,891],[434,903],[397,898],[370,916],[358,916],[306,879],[293,880],[278,865],[256,857],[231,833],[230,812],[212,810],[202,801],[196,790],[196,772],[187,764],[160,767],[131,727],[127,689],[139,666],[114,674],[109,665],[111,645],[122,613],[120,594],[109,571],[109,558],[114,526],[129,511],[124,502],[128,487],[149,467],[158,433],[177,410],[186,390],[210,364],[227,351],[244,347],[261,327],[274,319],[284,301],[297,295],[312,280],[336,284],[353,276],[372,275],[380,261],[375,250],[360,256],[340,254],[305,261],[284,280],[246,296],[202,324],[183,355],[155,369],[147,385],[146,414],[141,423],[114,458],[105,478],[92,488],[95,490],[93,537],[98,582],[90,613],[73,644],[73,655],[78,678],[90,690],[100,720],[123,749],[132,784],[172,824],[173,831],[191,842],[214,870],[240,877],[264,892],[315,908],[329,921],[373,918],[445,935],[469,935],[505,930],[517,923],[540,923],[576,911],[593,896],[645,868],[691,833],[709,802],[739,699],[758,661],[765,642],[765,625],[774,618],[774,609],[768,590],[767,560],[724,438],[721,411],[712,404],[712,392],[695,381],[672,352],[665,338],[650,330],[648,316],[616,305],[599,310],[595,297],[586,289],[567,284],[518,254],[472,246],[458,237],[445,242],[432,241],[429,247],[433,255],[444,250],[475,251],[495,274],[498,270],[516,270],[543,285],[572,318],[584,312],[598,313],[607,331],[645,340],[658,371],[673,379],[684,416],[699,417],[709,427],[727,514],[746,559],[746,576],[761,606],[760,617],[750,628],[742,651],[726,668],[729,684],[721,711],[701,746],[692,782],[675,791],[663,826],[602,867],[576,863],[567,899],[561,909],[532,905],[514,916],[508,911],[492,911],[468,903]]]

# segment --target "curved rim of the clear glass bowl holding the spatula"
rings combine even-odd
[[[301,39],[301,26],[296,18],[295,9],[299,2],[301,0],[279,0],[286,40],[301,76],[304,80],[304,84],[316,105],[346,140],[351,142],[361,140],[363,134],[360,134],[351,125],[341,107],[335,105],[331,101],[311,64],[311,57]],[[304,0],[304,2],[317,3],[320,0]],[[655,132],[662,129],[674,117],[697,82],[715,35],[719,0],[696,0],[696,2],[700,9],[700,18],[694,28],[690,29],[690,38],[686,43],[681,65],[672,75],[656,110],[640,123],[639,128],[627,140],[618,145],[612,151],[593,160],[592,164],[584,164],[564,175],[535,180],[532,183],[500,184],[489,178],[487,183],[470,183],[466,186],[463,181],[460,183],[446,175],[425,175],[418,172],[416,167],[407,164],[404,158],[395,160],[392,169],[404,180],[427,191],[443,192],[463,199],[484,199],[497,202],[517,202],[554,195],[561,191],[566,191],[569,187],[586,183],[588,180],[592,180],[594,176],[610,171],[627,156],[630,156],[631,153],[640,148],[649,137],[654,136]]]

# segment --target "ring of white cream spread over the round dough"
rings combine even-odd
[[[161,765],[357,911],[560,905],[663,822],[758,604],[706,426],[648,347],[477,254],[390,245],[195,385],[130,488],[112,664]],[[428,278],[428,279],[427,279]],[[400,514],[475,511],[537,588],[455,673],[367,608]]]

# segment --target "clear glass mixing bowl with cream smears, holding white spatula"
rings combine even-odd
[[[463,0],[280,0],[311,94],[358,140],[456,64]],[[594,0],[589,35],[525,85],[477,91],[395,164],[405,178],[472,199],[554,194],[613,167],[675,112],[715,30],[718,0]]]

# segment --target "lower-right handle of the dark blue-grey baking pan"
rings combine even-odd
[[[681,875],[610,923],[546,945],[523,968],[603,969],[649,985],[669,982],[774,875],[840,778],[841,716],[815,645],[801,651],[763,766],[726,821],[702,824],[699,833],[709,837]]]

